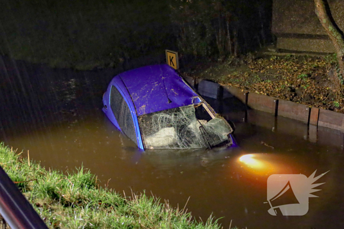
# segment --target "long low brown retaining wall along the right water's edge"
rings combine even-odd
[[[265,111],[274,116],[278,115],[299,120],[309,125],[311,135],[313,132],[316,133],[318,126],[344,132],[344,114],[315,107],[310,108],[300,103],[280,100],[257,93],[248,93],[234,87],[221,86],[208,80],[184,78],[201,96],[218,100],[235,97],[248,108]],[[311,138],[313,137],[311,136]],[[314,138],[316,141],[316,134]]]

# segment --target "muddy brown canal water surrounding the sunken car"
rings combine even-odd
[[[1,65],[2,64],[2,65]],[[264,112],[246,111],[235,98],[210,101],[235,124],[239,147],[227,151],[146,151],[103,115],[101,97],[113,71],[73,72],[2,60],[0,141],[61,171],[84,166],[102,185],[151,193],[184,207],[196,219],[210,214],[225,227],[343,228],[343,133]],[[272,174],[329,171],[309,198],[304,216],[272,216]]]

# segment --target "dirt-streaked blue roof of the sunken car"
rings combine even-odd
[[[138,116],[200,102],[197,93],[167,64],[134,69],[117,77],[127,88]]]

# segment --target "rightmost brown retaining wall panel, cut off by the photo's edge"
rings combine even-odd
[[[344,131],[344,114],[319,109],[318,126]]]

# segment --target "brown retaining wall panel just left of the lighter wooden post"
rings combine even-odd
[[[279,100],[278,115],[290,119],[296,119],[308,124],[310,108],[300,103]]]

